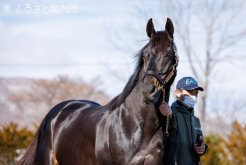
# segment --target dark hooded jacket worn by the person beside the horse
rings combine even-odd
[[[164,164],[197,165],[200,156],[194,150],[196,137],[202,134],[200,120],[194,116],[194,110],[180,101],[175,101],[171,109],[175,127],[170,132],[165,150]]]

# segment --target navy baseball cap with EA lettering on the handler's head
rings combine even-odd
[[[192,77],[181,78],[176,85],[176,89],[185,89],[185,90],[197,89],[203,91],[203,88],[199,87],[197,81]]]

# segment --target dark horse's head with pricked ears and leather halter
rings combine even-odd
[[[167,18],[165,31],[155,31],[152,19],[147,23],[149,43],[144,47],[143,60],[143,99],[146,103],[160,101],[165,97],[165,88],[173,83],[178,65],[178,55],[173,42],[174,27]]]

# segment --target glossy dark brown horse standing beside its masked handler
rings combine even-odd
[[[159,105],[169,98],[178,56],[173,23],[156,32],[137,55],[138,63],[122,93],[105,106],[64,101],[43,119],[20,164],[162,164],[165,118]]]

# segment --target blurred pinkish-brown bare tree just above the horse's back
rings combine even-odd
[[[65,76],[59,76],[55,80],[33,80],[30,89],[12,93],[9,97],[15,105],[17,120],[28,120],[26,123],[39,122],[53,106],[73,99],[88,99],[100,104],[109,101],[109,97],[94,86]]]

